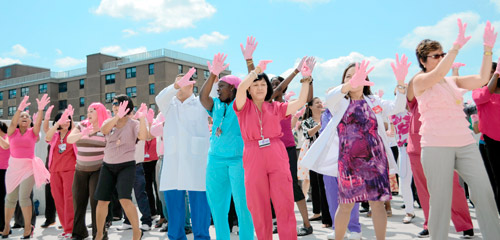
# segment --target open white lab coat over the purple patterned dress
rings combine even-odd
[[[300,162],[300,164],[306,168],[333,177],[338,175],[339,136],[337,126],[347,111],[350,102],[349,99],[345,98],[346,94],[343,94],[341,89],[342,85],[335,87],[327,93],[326,107],[328,107],[332,113],[332,119]],[[389,161],[389,171],[391,174],[397,173],[398,168],[396,161],[388,145],[389,141],[385,133],[384,117],[405,110],[406,94],[397,92],[395,101],[382,100],[375,95],[364,96],[364,98],[371,109],[375,106],[380,106],[382,108],[382,112],[375,114],[377,117],[378,135],[384,143]]]

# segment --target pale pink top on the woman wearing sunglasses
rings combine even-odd
[[[422,147],[463,147],[476,142],[463,111],[466,90],[458,88],[452,78],[445,80],[417,97]]]

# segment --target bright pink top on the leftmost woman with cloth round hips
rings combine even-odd
[[[24,134],[16,128],[9,137],[10,154],[15,158],[34,158],[37,138],[38,136],[33,133],[33,128],[28,128]]]

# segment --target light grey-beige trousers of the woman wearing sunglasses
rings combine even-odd
[[[453,191],[453,171],[467,182],[483,239],[498,239],[500,219],[476,144],[464,147],[422,147],[422,167],[430,194],[429,233],[431,239],[448,239]]]

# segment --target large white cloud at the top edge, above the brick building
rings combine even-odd
[[[194,23],[211,17],[217,10],[205,0],[102,0],[96,14],[116,18],[149,21],[146,31],[163,32],[194,27]]]

